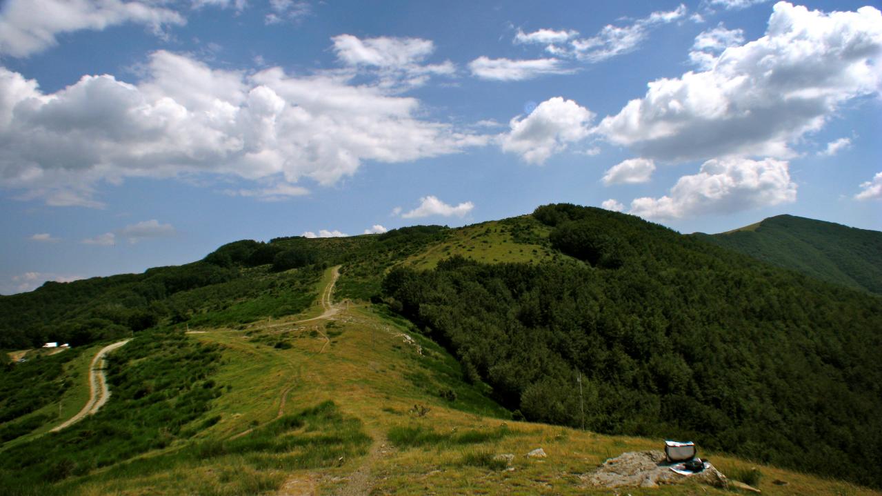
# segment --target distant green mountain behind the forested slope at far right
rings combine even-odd
[[[777,215],[741,229],[696,236],[778,267],[882,294],[882,232]]]

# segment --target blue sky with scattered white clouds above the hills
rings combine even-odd
[[[0,3],[0,293],[573,202],[882,229],[878,2]]]

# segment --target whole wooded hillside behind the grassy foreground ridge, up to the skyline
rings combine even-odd
[[[849,239],[839,259],[871,260],[870,237]],[[243,240],[181,267],[0,297],[0,347],[243,328],[303,312],[340,265],[335,298],[412,319],[517,417],[882,486],[864,470],[882,463],[882,297],[707,240],[572,205],[460,229]]]

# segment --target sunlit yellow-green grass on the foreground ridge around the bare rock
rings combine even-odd
[[[319,313],[316,305],[304,315]],[[183,426],[193,431],[190,439],[22,493],[275,494],[291,481],[313,481],[318,493],[328,493],[368,463],[377,494],[610,494],[584,486],[579,475],[626,451],[662,447],[662,440],[513,422],[486,389],[461,380],[444,349],[369,305],[352,305],[330,325],[312,323],[333,334],[323,352],[324,340],[294,320],[253,326],[250,335],[227,328],[188,335],[221,347],[211,379],[222,390],[210,410]],[[280,341],[290,348],[274,348]],[[456,399],[439,395],[440,387],[455,390]],[[422,416],[415,405],[424,407]],[[527,458],[537,447],[548,456]],[[371,450],[378,455],[368,456]],[[497,455],[513,455],[512,470]],[[766,494],[878,494],[700,447],[699,456],[733,476],[758,467]],[[620,493],[729,492],[686,485]]]

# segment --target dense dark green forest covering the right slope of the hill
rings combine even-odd
[[[882,486],[882,297],[630,215],[534,217],[581,261],[396,267],[387,301],[527,419]]]

